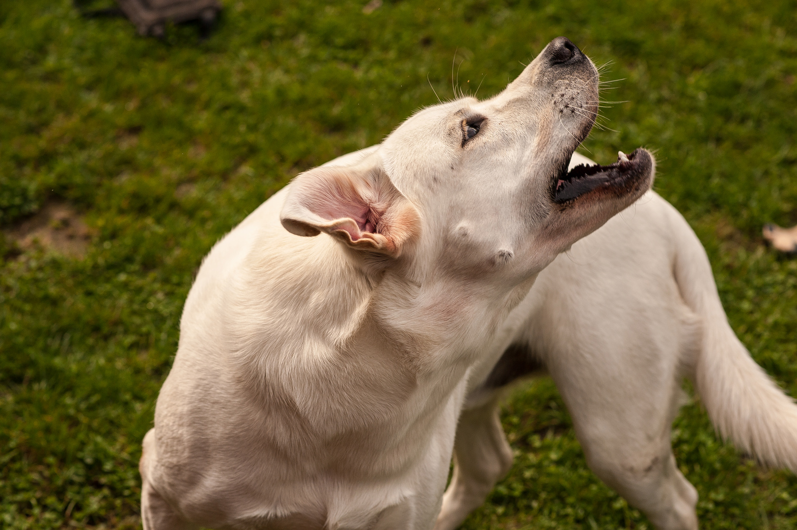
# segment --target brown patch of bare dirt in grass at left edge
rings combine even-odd
[[[64,202],[48,202],[25,221],[4,230],[23,251],[41,245],[70,257],[82,258],[91,240],[91,230],[83,218]]]

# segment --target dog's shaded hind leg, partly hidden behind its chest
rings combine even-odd
[[[512,467],[512,450],[501,428],[499,393],[462,411],[454,441],[451,484],[434,530],[453,530]]]

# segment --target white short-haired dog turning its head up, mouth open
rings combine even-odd
[[[592,468],[660,528],[697,526],[669,452],[682,375],[722,432],[795,467],[795,408],[669,205],[556,257],[653,179],[644,150],[567,171],[597,100],[559,37],[498,96],[418,112],[220,241],[144,438],[144,528],[455,528],[511,463],[499,389],[540,363]]]

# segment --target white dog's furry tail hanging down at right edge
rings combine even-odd
[[[694,382],[714,426],[765,464],[797,473],[797,405],[750,357],[720,303],[703,245],[678,214],[675,279],[703,333]]]

